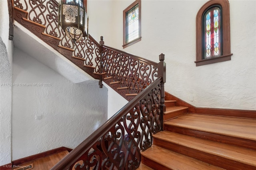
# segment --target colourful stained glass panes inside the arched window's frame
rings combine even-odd
[[[204,59],[222,55],[221,7],[207,10],[203,15]]]

